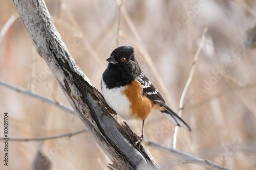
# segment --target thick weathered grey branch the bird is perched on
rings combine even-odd
[[[46,61],[82,124],[111,159],[115,169],[156,169],[154,159],[142,146],[133,148],[132,131],[103,114],[104,99],[76,65],[42,0],[13,0],[37,53]],[[133,139],[134,140],[134,139]]]

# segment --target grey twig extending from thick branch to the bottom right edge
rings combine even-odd
[[[199,158],[196,158],[192,155],[188,155],[188,154],[185,154],[183,152],[180,152],[180,151],[177,151],[173,148],[167,148],[167,147],[164,147],[163,145],[159,144],[159,143],[155,143],[153,141],[145,141],[145,143],[149,146],[149,147],[152,147],[152,148],[155,148],[159,151],[162,151],[162,152],[166,152],[166,153],[170,153],[172,155],[175,155],[179,158],[182,158],[185,160],[185,163],[194,163],[194,164],[197,164],[197,165],[201,165],[201,166],[204,166],[204,167],[207,167],[207,168],[211,168],[211,169],[219,169],[219,170],[230,170],[226,167],[223,167],[221,165],[218,165],[214,162],[211,162],[211,161],[208,161],[206,159],[199,159]]]

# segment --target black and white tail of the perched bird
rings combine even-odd
[[[176,114],[168,106],[162,106],[165,110],[161,111],[175,126],[181,126],[182,128],[191,131],[189,126],[184,122],[184,120]]]

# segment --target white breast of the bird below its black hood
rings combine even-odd
[[[101,91],[106,103],[108,103],[108,105],[123,119],[129,120],[133,119],[134,117],[131,117],[130,102],[122,93],[122,91],[125,89],[126,86],[108,89],[106,88],[105,82],[101,78]]]

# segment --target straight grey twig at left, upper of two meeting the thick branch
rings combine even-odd
[[[40,101],[42,102],[46,102],[50,105],[53,105],[53,106],[56,106],[57,108],[63,110],[63,111],[66,111],[68,113],[71,113],[71,114],[75,114],[74,110],[72,110],[71,108],[59,103],[59,102],[55,102],[49,98],[46,98],[45,96],[43,95],[39,95],[39,94],[35,94],[29,90],[25,90],[25,89],[22,89],[20,87],[17,87],[17,86],[14,86],[14,85],[11,85],[7,82],[4,82],[3,80],[0,80],[0,85],[2,86],[5,86],[5,87],[8,87],[9,89],[12,89],[14,91],[17,91],[19,93],[22,93],[22,94],[25,94],[25,95],[28,95],[32,98],[35,98],[35,99],[39,99]]]

